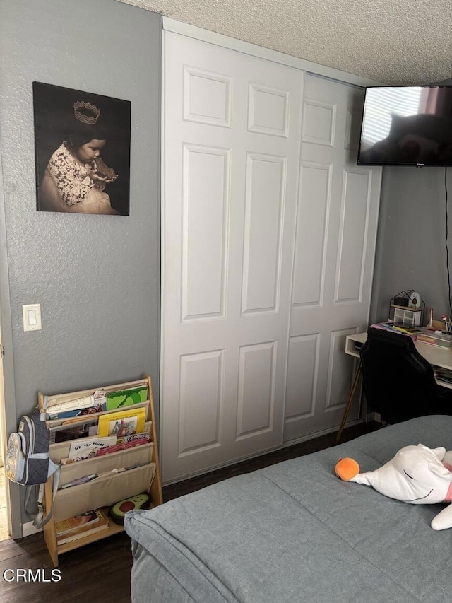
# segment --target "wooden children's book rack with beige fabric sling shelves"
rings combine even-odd
[[[70,486],[69,488],[59,489],[57,496],[53,501],[53,514],[49,522],[44,525],[44,539],[52,557],[54,566],[58,566],[58,556],[66,551],[77,549],[79,546],[89,544],[102,538],[117,534],[123,531],[122,525],[117,525],[109,520],[107,529],[99,532],[87,534],[85,537],[57,544],[56,523],[84,513],[87,510],[97,508],[108,508],[123,498],[135,496],[141,492],[150,494],[151,505],[161,505],[162,485],[160,479],[160,467],[157,452],[157,437],[155,429],[155,414],[153,404],[153,394],[150,377],[145,375],[143,380],[121,383],[120,385],[109,385],[98,387],[97,390],[127,390],[139,385],[148,386],[148,416],[147,421],[151,421],[150,442],[141,444],[125,450],[111,452],[109,454],[91,457],[70,464],[61,464],[59,487],[69,484],[81,477],[97,474],[97,478],[88,481],[85,484]],[[53,401],[66,401],[78,399],[93,394],[93,390],[83,390],[73,392],[72,394],[61,394],[52,396]],[[44,395],[38,394],[40,409],[44,409]],[[129,408],[129,406],[127,407]],[[90,414],[91,417],[117,412],[104,411],[102,413]],[[82,441],[82,440],[80,440]],[[61,462],[69,456],[69,447],[73,440],[54,443],[49,446],[49,454],[55,462]],[[114,469],[126,469],[121,472],[114,472]],[[46,510],[52,508],[53,498],[53,476],[50,477],[44,486],[44,506]]]

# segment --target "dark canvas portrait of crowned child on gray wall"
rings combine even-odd
[[[131,103],[33,82],[37,211],[129,216]]]

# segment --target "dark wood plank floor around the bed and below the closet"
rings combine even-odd
[[[342,441],[374,431],[379,423],[361,423],[347,428]],[[335,433],[323,435],[291,447],[270,452],[261,457],[240,462],[232,467],[197,476],[163,488],[165,502],[186,493],[239,474],[249,473],[270,464],[322,450],[335,445]],[[124,533],[70,551],[59,558],[59,573],[52,581],[52,561],[42,534],[20,540],[0,542],[0,601],[1,603],[130,603],[131,544]],[[35,582],[11,581],[13,572],[32,570]],[[39,570],[39,573],[38,571]],[[40,581],[37,577],[41,578]],[[6,578],[6,579],[5,579]]]

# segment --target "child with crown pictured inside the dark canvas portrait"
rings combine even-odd
[[[73,123],[47,164],[40,186],[40,209],[72,213],[117,214],[105,187],[117,174],[101,159],[105,131],[98,123],[100,109],[77,100]]]

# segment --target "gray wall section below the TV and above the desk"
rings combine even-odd
[[[449,169],[449,172],[451,170]],[[447,175],[449,233],[452,178]],[[434,317],[449,315],[446,271],[446,187],[444,168],[383,168],[371,322],[388,319],[389,301],[415,289]],[[452,262],[452,238],[449,241]],[[451,263],[452,270],[452,263]]]

